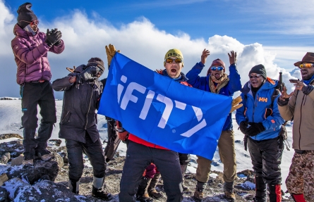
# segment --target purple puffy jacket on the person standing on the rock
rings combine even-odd
[[[16,73],[16,82],[48,80],[52,78],[47,52],[62,53],[64,51],[64,42],[61,40],[59,46],[49,47],[45,40],[46,34],[37,30],[35,36],[26,32],[18,24],[14,26],[13,33],[16,37],[12,40],[11,46],[14,53],[18,72]]]

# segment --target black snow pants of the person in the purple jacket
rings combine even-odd
[[[37,153],[41,155],[49,153],[47,140],[52,136],[52,127],[56,122],[56,103],[54,91],[49,81],[25,82],[20,86],[22,97],[22,126],[24,159],[34,159]],[[37,105],[40,106],[40,128],[35,138],[37,128]]]

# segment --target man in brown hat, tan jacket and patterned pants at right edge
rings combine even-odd
[[[306,53],[300,68],[302,80],[288,95],[286,89],[278,100],[284,120],[294,119],[292,148],[294,158],[286,178],[286,188],[296,202],[314,201],[314,53]],[[291,97],[290,97],[291,96]]]

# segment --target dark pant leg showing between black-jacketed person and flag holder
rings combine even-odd
[[[104,159],[106,159],[106,162],[108,163],[109,160],[114,158],[114,153],[116,153],[116,149],[118,149],[121,139],[119,139],[118,135],[116,134],[116,130],[114,130],[116,120],[109,117],[106,117],[106,119],[108,141],[106,147],[104,148]]]

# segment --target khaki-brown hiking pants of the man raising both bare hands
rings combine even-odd
[[[219,157],[224,164],[224,182],[236,179],[236,152],[234,151],[234,131],[224,130],[218,141]],[[206,183],[210,177],[212,160],[198,156],[195,178]]]

